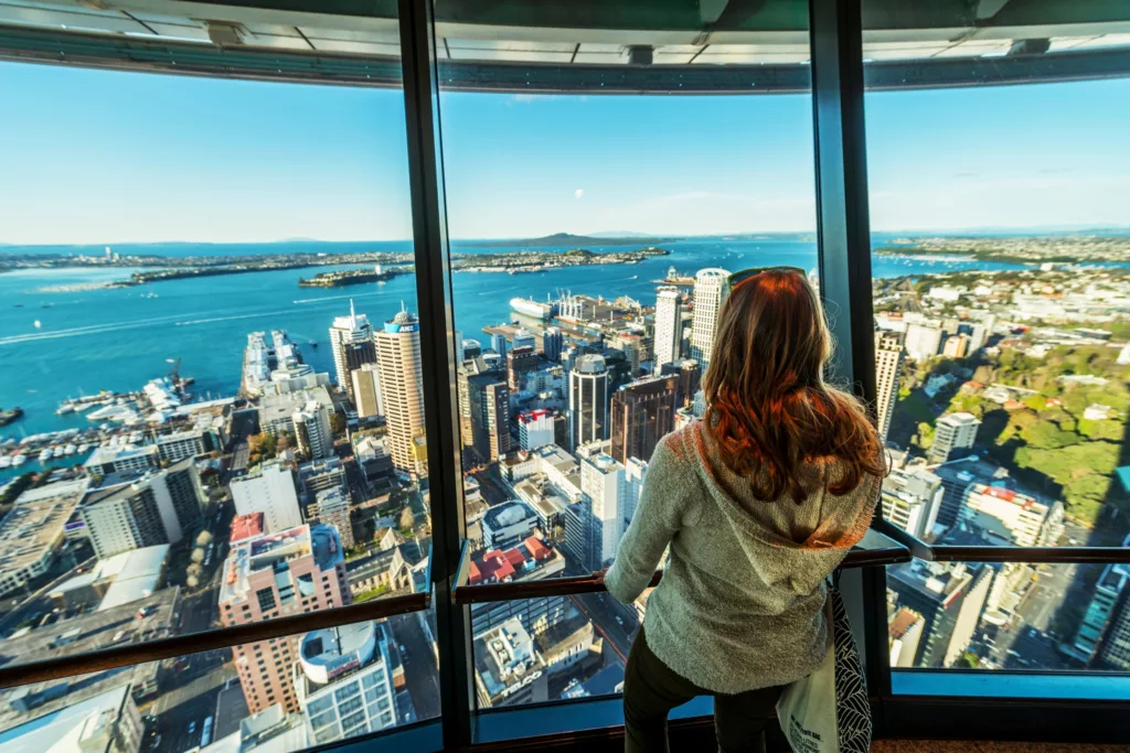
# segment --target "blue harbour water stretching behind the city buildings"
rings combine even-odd
[[[880,239],[876,238],[879,243]],[[115,246],[119,253],[203,254],[287,253],[321,251],[410,251],[410,244],[327,244],[290,242],[257,245],[160,244]],[[631,248],[608,246],[606,248]],[[671,255],[635,265],[590,266],[528,274],[457,272],[453,277],[455,326],[464,338],[485,340],[484,326],[511,321],[508,301],[516,296],[545,300],[559,290],[649,301],[654,280],[668,268],[693,273],[706,266],[741,270],[788,264],[815,269],[812,237],[773,236],[756,240],[697,238],[664,244]],[[98,253],[101,246],[55,248],[62,253]],[[454,251],[487,253],[502,248]],[[598,247],[599,249],[599,247]],[[0,248],[0,253],[23,251]],[[876,277],[896,277],[957,269],[1018,269],[1017,264],[933,263],[914,256],[875,259]],[[87,427],[81,415],[59,417],[54,409],[66,397],[101,389],[127,391],[166,374],[169,359],[180,359],[182,375],[195,378],[200,399],[234,395],[240,385],[247,333],[285,329],[319,371],[332,374],[327,343],[334,316],[348,314],[353,299],[358,313],[374,324],[391,318],[401,305],[416,310],[415,281],[398,277],[384,284],[347,288],[299,288],[312,271],[255,272],[199,280],[174,280],[119,289],[47,291],[121,279],[127,269],[21,270],[0,274],[0,406],[19,405],[20,421],[0,429],[0,436],[24,436],[69,427]],[[306,345],[318,341],[319,348]],[[70,458],[70,462],[75,462]],[[24,470],[34,469],[29,462]],[[9,475],[6,473],[5,475]],[[2,476],[0,476],[2,478]]]

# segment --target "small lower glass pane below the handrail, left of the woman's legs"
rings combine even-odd
[[[645,603],[585,594],[472,604],[479,708],[620,692]]]

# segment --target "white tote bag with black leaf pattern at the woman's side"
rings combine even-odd
[[[816,672],[784,689],[777,720],[793,753],[866,753],[871,748],[867,680],[843,599],[831,584],[828,611],[828,654]]]

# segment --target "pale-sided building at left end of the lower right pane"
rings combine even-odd
[[[914,562],[887,570],[899,606],[922,615],[913,666],[953,666],[970,645],[994,570],[965,562]]]

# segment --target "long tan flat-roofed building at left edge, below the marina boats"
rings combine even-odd
[[[51,569],[86,484],[86,479],[58,481],[16,498],[0,520],[0,596],[26,589]]]

